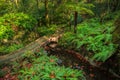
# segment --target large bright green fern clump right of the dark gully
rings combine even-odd
[[[115,51],[112,43],[112,24],[100,24],[98,19],[91,19],[78,25],[77,34],[66,32],[61,39],[63,45],[72,46],[77,50],[84,46],[92,51],[93,60],[105,61]],[[71,43],[70,43],[71,42]]]

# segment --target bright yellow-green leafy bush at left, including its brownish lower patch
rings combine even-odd
[[[6,14],[0,17],[0,39],[12,38],[15,35],[15,31],[30,31],[35,24],[35,19],[26,14]]]

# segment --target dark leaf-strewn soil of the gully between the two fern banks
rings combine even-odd
[[[110,64],[110,61],[113,58],[111,58],[110,61],[108,60],[107,62],[102,64],[100,67],[96,67],[91,65],[86,59],[84,59],[83,56],[77,56],[73,50],[66,50],[59,46],[52,48],[49,46],[45,46],[45,49],[49,53],[49,56],[54,55],[58,57],[59,65],[64,65],[73,69],[83,70],[87,80],[120,80],[120,78],[117,78],[115,75],[109,72],[109,68],[111,68],[112,66],[115,67],[114,64]],[[112,63],[114,62],[112,61]],[[118,64],[116,63],[116,66],[117,65]],[[106,68],[104,69],[101,67]]]

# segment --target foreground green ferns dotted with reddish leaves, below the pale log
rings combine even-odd
[[[73,70],[64,66],[60,67],[57,64],[58,59],[55,56],[48,57],[46,54],[42,50],[37,53],[26,52],[22,57],[25,59],[22,65],[19,65],[18,62],[14,63],[14,71],[20,74],[18,78],[20,80],[85,80],[82,71]]]

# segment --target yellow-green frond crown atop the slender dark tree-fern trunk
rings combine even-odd
[[[94,5],[90,3],[85,3],[85,1],[69,1],[66,2],[65,8],[67,10],[71,11],[78,11],[80,14],[89,14],[89,15],[94,15],[93,11],[91,8],[93,8]]]

